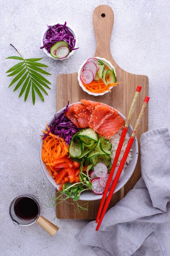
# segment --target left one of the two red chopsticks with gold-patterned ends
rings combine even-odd
[[[122,134],[121,134],[121,137],[120,137],[120,141],[119,141],[119,144],[118,144],[118,148],[117,148],[117,150],[116,150],[116,155],[115,155],[115,158],[114,158],[114,162],[113,162],[113,165],[112,165],[112,167],[111,167],[111,171],[110,171],[110,174],[109,174],[109,177],[108,177],[108,180],[107,180],[107,184],[106,184],[106,187],[105,187],[105,191],[103,192],[103,195],[102,195],[102,200],[101,200],[101,202],[100,202],[100,207],[99,207],[99,209],[98,209],[98,214],[97,214],[97,218],[96,218],[96,223],[98,223],[98,220],[99,220],[99,218],[100,218],[100,214],[101,214],[103,205],[104,205],[104,203],[105,203],[105,199],[106,199],[106,196],[107,196],[107,192],[108,192],[108,190],[109,190],[109,186],[110,186],[110,183],[111,183],[111,180],[112,180],[112,177],[113,177],[115,168],[116,168],[116,164],[117,164],[117,162],[118,162],[118,159],[119,159],[119,156],[120,156],[120,152],[121,152],[121,150],[122,150],[124,138],[125,138],[125,136],[126,136],[126,132],[127,132],[128,127],[129,127],[129,124],[130,124],[130,121],[131,121],[131,117],[132,117],[132,115],[133,115],[133,111],[134,111],[134,108],[135,108],[137,99],[138,99],[138,97],[139,97],[141,88],[142,88],[141,86],[137,86],[136,91],[135,91],[135,94],[134,94],[134,97],[133,97],[133,100],[132,100],[132,102],[131,102],[131,107],[130,107],[130,109],[129,109],[129,113],[128,113],[127,118],[126,118],[124,128],[123,128],[123,130],[122,130]]]

